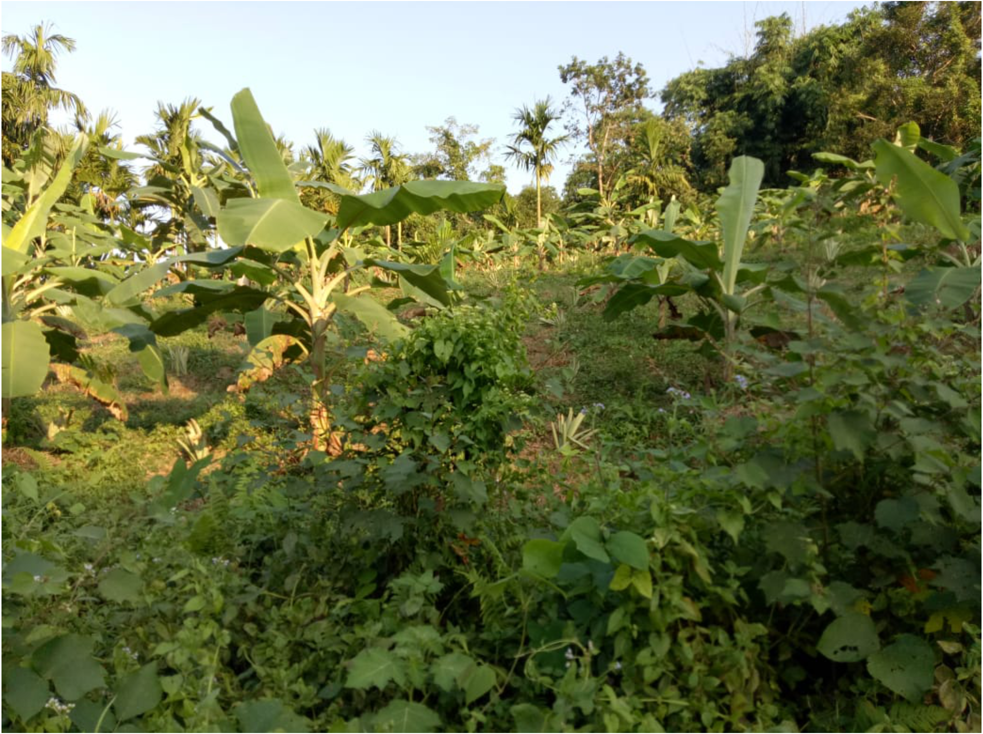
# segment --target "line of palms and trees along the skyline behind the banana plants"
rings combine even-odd
[[[541,223],[543,214],[559,205],[551,195],[544,200],[543,189],[557,156],[574,141],[586,152],[571,158],[562,204],[592,196],[605,200],[617,189],[623,204],[637,206],[671,197],[686,202],[697,192],[713,192],[725,183],[736,155],[761,158],[765,184],[781,187],[789,183],[787,170],[814,166],[812,153],[834,150],[862,159],[872,141],[893,136],[908,121],[917,122],[926,138],[961,149],[979,135],[978,3],[887,2],[855,11],[842,24],[799,35],[784,14],[760,21],[756,28],[754,48],[747,55],[732,56],[720,68],[681,74],[658,94],[645,68],[621,53],[593,64],[574,56],[560,65],[559,77],[569,87],[567,99],[534,100],[516,109],[516,133],[503,148],[509,162],[529,171],[532,191],[539,192],[534,221],[523,215],[524,223]],[[48,123],[55,108],[70,110],[76,129],[99,144],[119,146],[111,113],[93,121],[77,95],[55,86],[56,58],[74,48],[72,38],[53,34],[47,26],[4,37],[4,52],[14,59],[13,71],[3,73],[6,165],[37,136],[45,137],[51,155],[64,154],[65,132],[51,130]],[[664,105],[662,114],[647,106],[657,96]],[[180,172],[196,169],[196,161],[183,161],[182,156],[208,159],[216,154],[202,147],[195,129],[202,118],[200,106],[199,100],[159,104],[156,130],[137,139],[170,163],[143,172],[147,186],[167,189],[172,199],[165,202],[162,236],[180,239],[189,236],[189,227],[194,229],[188,217],[171,216],[187,208],[197,186]],[[561,124],[566,135],[560,134]],[[374,131],[366,139],[370,154],[360,160],[352,145],[326,129],[314,131],[315,142],[298,153],[290,141],[279,138],[277,144],[285,160],[311,180],[350,191],[374,191],[418,178],[504,180],[504,167],[493,161],[495,141],[481,139],[477,125],[451,117],[428,130],[433,149],[417,153]],[[108,163],[93,147],[79,171],[74,187],[91,191],[106,215],[120,216],[122,208],[134,225],[152,218],[154,211],[159,218],[160,196],[117,200],[138,178],[125,161]],[[337,206],[336,196],[323,188],[304,189],[302,197],[327,212]],[[514,201],[500,208],[503,221],[516,219]],[[452,219],[455,228],[482,222],[473,215]],[[426,237],[422,226],[408,221],[407,236]],[[395,233],[396,244],[403,234]],[[393,233],[385,237],[392,242]]]

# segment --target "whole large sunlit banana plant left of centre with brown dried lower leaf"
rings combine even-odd
[[[353,275],[369,267],[379,268],[391,273],[409,298],[426,298],[442,306],[451,303],[439,264],[401,263],[366,256],[351,247],[349,233],[367,225],[396,224],[412,213],[486,208],[502,197],[504,187],[413,181],[358,196],[330,183],[299,182],[284,163],[248,88],[233,97],[231,109],[234,134],[214,118],[209,119],[220,132],[224,131],[231,148],[241,157],[249,196],[226,198],[219,203],[215,212],[217,233],[229,247],[207,255],[221,256],[221,266],[232,275],[248,277],[256,285],[191,279],[163,288],[155,296],[183,293],[193,297],[195,304],[163,314],[149,328],[157,336],[172,336],[201,324],[210,313],[244,312],[247,335],[253,345],[249,357],[253,366],[268,369],[291,354],[310,365],[314,374],[310,417],[314,447],[329,448],[328,353],[337,342],[334,316],[338,312],[350,313],[384,338],[396,338],[407,331],[392,311],[363,297],[373,284],[353,286]],[[340,203],[334,217],[301,203],[298,187],[312,185],[338,196]]]

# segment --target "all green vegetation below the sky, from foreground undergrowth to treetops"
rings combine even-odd
[[[516,198],[3,47],[5,730],[980,729],[977,4],[574,57]]]

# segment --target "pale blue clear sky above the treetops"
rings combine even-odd
[[[373,130],[409,153],[433,149],[427,126],[454,117],[494,139],[517,194],[528,173],[503,146],[512,115],[568,88],[557,66],[618,51],[640,62],[658,94],[679,74],[753,48],[755,21],[787,13],[797,32],[842,22],[865,2],[23,2],[4,0],[3,34],[38,23],[75,38],[58,86],[93,112],[109,108],[129,146],[155,127],[157,101],[199,97],[231,127],[229,102],[252,88],[260,111],[295,150],[315,128],[366,155]],[[12,62],[4,57],[4,71]],[[648,101],[660,110],[658,98]],[[202,121],[202,134],[221,141]],[[556,134],[561,129],[557,127]],[[139,149],[139,148],[137,148]],[[561,154],[550,184],[562,190]]]

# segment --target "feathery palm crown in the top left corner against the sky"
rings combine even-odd
[[[3,36],[3,52],[14,59],[14,71],[3,72],[3,158],[9,164],[29,145],[34,133],[48,127],[55,108],[73,111],[87,120],[78,95],[55,86],[56,57],[74,51],[75,40],[38,24],[27,35]]]

